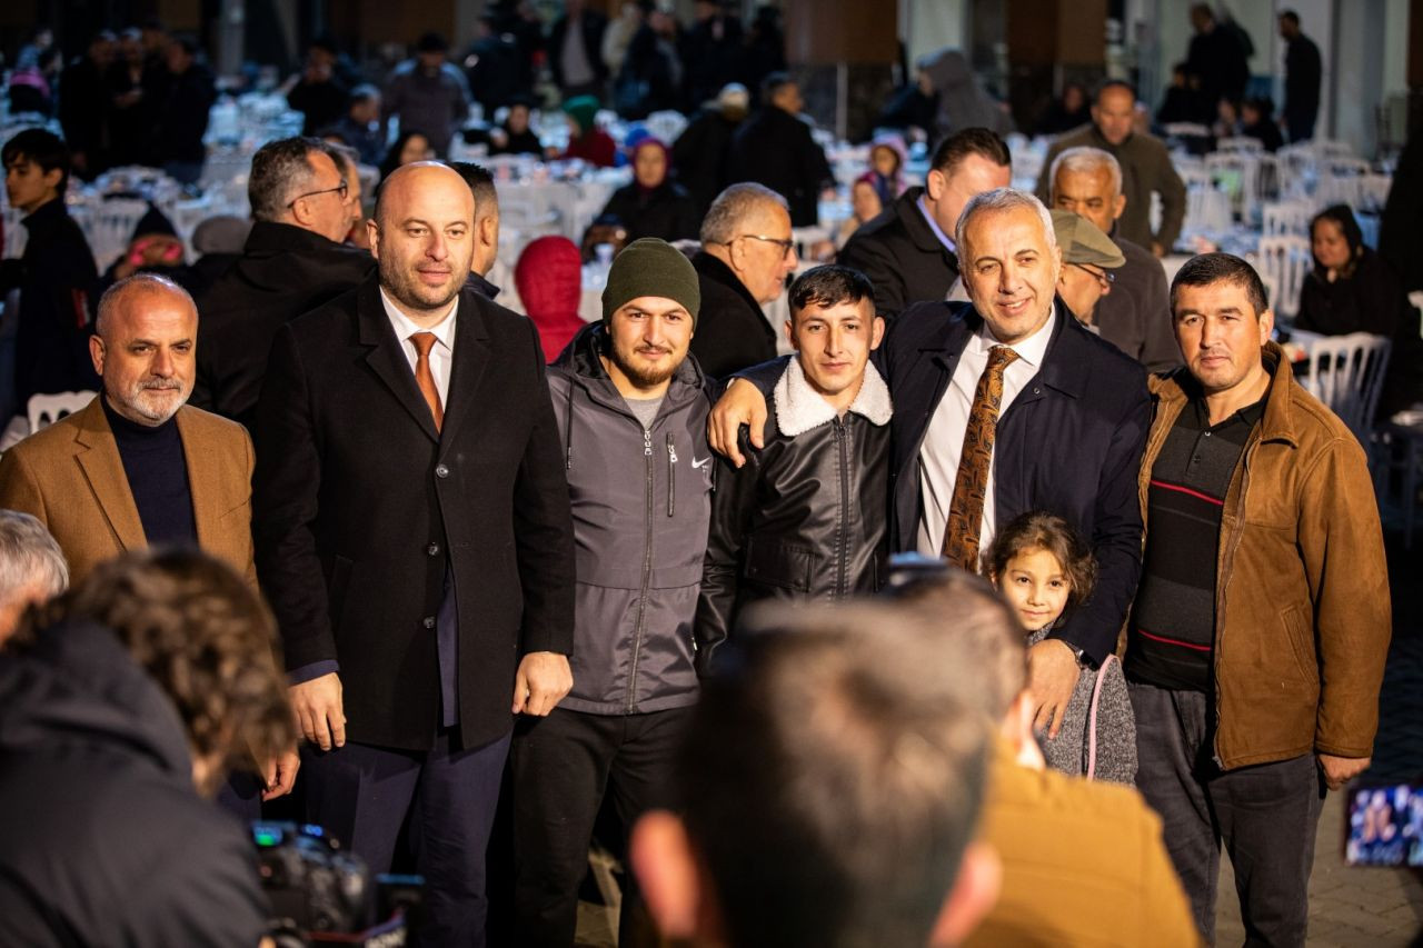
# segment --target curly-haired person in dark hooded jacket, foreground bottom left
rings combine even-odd
[[[295,740],[275,638],[239,575],[176,549],[31,613],[0,651],[6,942],[263,939],[252,837],[211,797],[231,760]]]

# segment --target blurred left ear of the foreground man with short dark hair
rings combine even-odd
[[[696,937],[702,877],[682,820],[666,810],[643,814],[628,855],[657,931],[672,939]]]

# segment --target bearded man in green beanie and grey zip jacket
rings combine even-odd
[[[573,689],[515,730],[521,944],[573,944],[605,789],[625,834],[669,806],[699,693],[693,619],[712,510],[709,381],[687,354],[700,306],[690,260],[635,241],[613,260],[602,322],[548,370],[578,551]],[[625,894],[622,944],[636,902]]]

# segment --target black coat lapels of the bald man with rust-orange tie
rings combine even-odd
[[[370,347],[366,362],[433,441],[450,438],[478,406],[474,394],[480,379],[488,369],[491,354],[485,306],[492,306],[492,303],[470,289],[468,285],[460,290],[460,303],[455,309],[460,329],[454,335],[454,360],[444,404],[444,427],[437,431],[435,421],[430,416],[430,406],[420,394],[416,374],[410,370],[410,360],[406,359],[401,342],[396,339],[396,330],[390,325],[390,317],[386,316],[386,306],[380,299],[380,276],[371,273],[366,282],[356,288],[357,340],[361,346]]]

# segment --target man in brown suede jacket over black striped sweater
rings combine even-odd
[[[1389,574],[1368,463],[1291,376],[1239,258],[1171,285],[1185,367],[1153,379],[1126,673],[1137,787],[1210,941],[1220,846],[1247,941],[1303,945],[1325,789],[1369,766]]]

